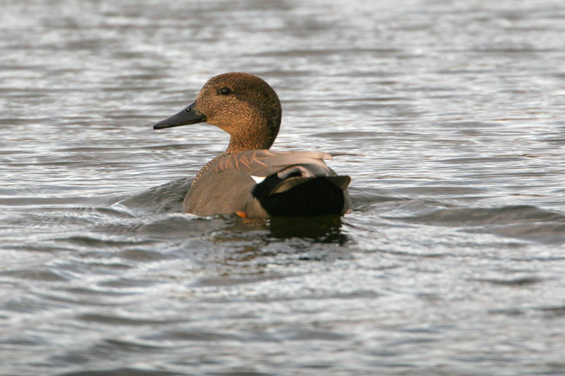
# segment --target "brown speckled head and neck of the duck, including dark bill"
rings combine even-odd
[[[196,102],[153,128],[206,121],[230,133],[227,152],[242,152],[273,145],[280,115],[280,101],[268,83],[249,73],[224,73],[208,80]]]

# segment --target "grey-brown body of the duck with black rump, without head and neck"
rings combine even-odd
[[[198,173],[184,210],[243,217],[343,214],[349,176],[337,176],[323,152],[250,150],[225,154]]]

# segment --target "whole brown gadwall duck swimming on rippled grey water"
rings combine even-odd
[[[295,217],[343,214],[351,178],[338,176],[324,152],[268,150],[280,127],[280,101],[272,87],[248,73],[210,78],[196,101],[154,129],[206,123],[230,133],[227,150],[202,167],[184,198],[197,215]]]

